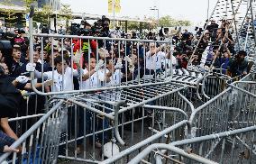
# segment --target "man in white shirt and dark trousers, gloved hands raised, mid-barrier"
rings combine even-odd
[[[105,59],[106,63],[104,66],[103,60],[98,60],[97,64],[96,64],[96,59],[91,57],[88,61],[88,64],[86,64],[86,67],[83,71],[83,77],[82,77],[82,82],[81,82],[81,88],[82,89],[96,89],[96,88],[100,88],[100,87],[111,87],[114,86],[117,83],[117,80],[119,79],[119,74],[117,73],[118,71],[120,72],[119,69],[117,68],[121,68],[121,66],[117,65],[115,67],[113,67],[112,65],[112,58],[106,58]],[[116,78],[115,78],[116,77]],[[119,81],[121,81],[121,78],[119,79]],[[103,91],[103,92],[95,92],[95,95],[90,94],[89,96],[87,96],[87,99],[100,99],[100,100],[105,100],[105,101],[110,101],[109,100],[109,95],[112,94],[110,93],[110,91]],[[97,108],[97,109],[102,109],[101,107],[87,102],[88,106]],[[105,105],[107,108],[111,108],[110,105]],[[110,113],[110,110],[103,110],[103,112],[105,113]],[[102,123],[102,120],[99,118],[95,118],[93,119],[94,114],[90,111],[87,110],[87,114],[86,114],[86,122],[87,122],[87,133],[92,133],[93,132],[93,128],[92,128],[92,123],[93,120],[96,119],[96,123],[95,123],[95,131],[101,131],[103,129],[106,129],[109,127],[109,121],[107,118],[105,118],[104,121],[104,125]],[[84,120],[83,118],[81,120]],[[83,129],[83,128],[82,128]],[[83,134],[82,132],[79,132],[81,134]],[[101,144],[104,142],[106,142],[108,140],[109,135],[107,134],[107,132],[105,132],[104,134],[104,141],[102,141],[102,133],[97,133],[96,134],[96,147],[100,148]],[[79,150],[79,148],[78,148]]]

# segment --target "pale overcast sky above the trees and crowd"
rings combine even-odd
[[[189,20],[194,25],[204,23],[207,16],[208,0],[120,0],[121,13],[117,16],[130,16],[132,18],[144,15],[157,18],[157,11],[150,8],[159,8],[160,17],[170,15],[176,19]],[[210,13],[217,0],[210,1]],[[86,14],[107,15],[107,0],[60,0],[62,4],[69,4],[73,12]]]

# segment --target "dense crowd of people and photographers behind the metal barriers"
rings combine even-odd
[[[250,68],[247,52],[234,50],[232,26],[227,20],[220,24],[211,20],[204,33],[177,31],[170,41],[160,38],[163,42],[115,41],[115,38],[140,38],[135,32],[125,34],[120,28],[110,31],[109,23],[109,19],[103,17],[93,25],[87,22],[72,24],[70,32],[61,27],[59,34],[109,37],[112,40],[34,37],[32,50],[22,30],[15,30],[13,35],[2,35],[2,39],[10,41],[12,49],[4,46],[0,49],[0,104],[1,109],[9,111],[3,115],[1,112],[1,151],[12,150],[8,146],[18,139],[8,123],[9,117],[44,112],[44,96],[32,96],[26,104],[21,95],[24,91],[32,92],[30,72],[34,72],[38,90],[61,92],[120,86],[123,82],[143,77],[155,78],[170,68],[175,73],[175,69],[187,68],[188,63],[195,67],[215,68],[219,72],[222,68],[220,73],[232,77],[246,75]],[[147,36],[148,40],[156,41],[157,38],[152,33]],[[34,64],[29,62],[31,51]],[[35,101],[37,111],[34,111]],[[26,108],[28,113],[24,111]],[[101,128],[97,127],[97,130]],[[100,141],[96,142],[101,147]]]

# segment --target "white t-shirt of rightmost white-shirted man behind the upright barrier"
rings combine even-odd
[[[165,59],[165,52],[159,51],[157,54],[151,56],[151,52],[146,53],[146,68],[147,69],[160,69],[161,61]]]

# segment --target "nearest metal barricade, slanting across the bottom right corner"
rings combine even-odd
[[[129,163],[254,163],[255,132],[256,126],[250,126],[170,144],[155,143]]]

